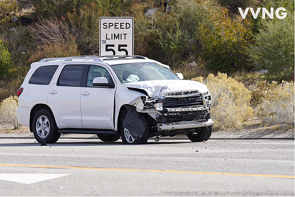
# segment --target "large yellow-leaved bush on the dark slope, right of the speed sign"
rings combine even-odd
[[[202,24],[199,28],[202,57],[211,69],[231,72],[248,68],[247,48],[252,43],[251,23],[237,16],[231,19],[225,9],[209,10],[214,28]]]

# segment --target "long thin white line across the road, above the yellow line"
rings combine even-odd
[[[103,156],[103,155],[57,155],[57,154],[30,154],[30,153],[0,153],[0,155],[30,155],[30,156],[60,156],[60,157],[105,157],[105,158],[136,158],[136,159],[189,159],[195,160],[200,158],[191,157],[132,157],[132,156]],[[202,158],[207,160],[224,160],[215,158]],[[287,160],[259,160],[259,159],[227,159],[227,161],[259,161],[259,162],[293,162]]]

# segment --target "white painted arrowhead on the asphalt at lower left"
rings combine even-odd
[[[49,179],[59,178],[62,176],[68,176],[70,174],[27,174],[27,173],[0,173],[0,180],[3,181],[11,181],[16,183],[22,183],[22,184],[32,184],[37,183],[40,181],[45,181]]]

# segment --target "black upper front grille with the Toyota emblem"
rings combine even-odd
[[[203,105],[201,94],[182,97],[165,97],[163,99],[163,108],[191,108]]]

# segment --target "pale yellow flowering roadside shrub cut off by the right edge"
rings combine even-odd
[[[276,83],[274,89],[265,92],[255,111],[266,124],[294,126],[294,82]]]

